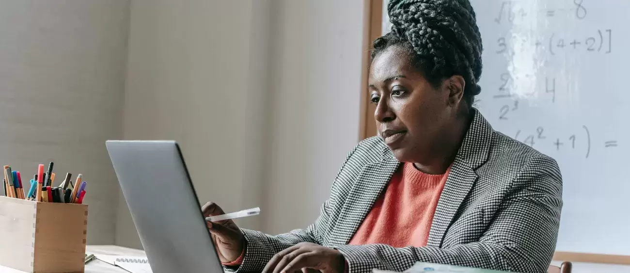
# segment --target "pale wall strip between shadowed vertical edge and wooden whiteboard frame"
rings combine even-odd
[[[274,0],[272,137],[265,231],[304,228],[319,215],[358,142],[362,0]]]

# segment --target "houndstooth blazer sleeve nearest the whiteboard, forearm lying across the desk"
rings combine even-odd
[[[402,272],[415,262],[481,267],[515,272],[546,272],[558,236],[562,178],[555,160],[530,158],[488,230],[474,243],[449,248],[340,245],[350,273],[372,269]]]

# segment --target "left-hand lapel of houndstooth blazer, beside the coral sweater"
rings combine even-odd
[[[386,149],[382,161],[365,165],[358,175],[341,209],[340,218],[333,230],[331,245],[345,245],[357,232],[365,216],[374,206],[400,162]]]

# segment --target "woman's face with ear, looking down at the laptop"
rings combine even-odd
[[[461,77],[460,77],[461,78]],[[376,127],[396,159],[423,162],[444,148],[464,86],[446,79],[433,86],[411,66],[403,47],[391,46],[375,56],[370,66],[370,99],[376,104]],[[457,93],[457,89],[459,94]],[[449,130],[450,129],[450,130]]]

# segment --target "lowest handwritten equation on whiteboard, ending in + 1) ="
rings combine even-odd
[[[532,148],[549,147],[556,151],[571,150],[584,155],[584,158],[590,156],[592,148],[591,132],[587,125],[582,125],[581,131],[572,132],[564,136],[547,136],[544,127],[537,127],[536,132],[518,130],[514,139],[521,141]],[[617,140],[607,140],[601,143],[594,143],[602,148],[616,148],[619,146]]]

